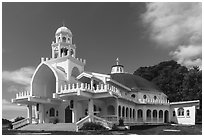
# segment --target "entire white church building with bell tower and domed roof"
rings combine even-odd
[[[76,57],[72,36],[67,27],[57,29],[52,57],[41,58],[31,90],[12,99],[27,106],[29,124],[70,123],[76,130],[88,121],[111,128],[119,119],[125,125],[195,124],[199,101],[170,103],[157,86],[126,73],[119,59],[110,74],[84,70],[86,60]]]

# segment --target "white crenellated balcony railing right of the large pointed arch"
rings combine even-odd
[[[96,87],[91,87],[91,84],[87,84],[87,83],[74,83],[74,84],[63,85],[61,86],[61,89],[58,92],[58,94],[77,92],[78,90],[84,90],[84,91],[94,92],[94,93],[110,92],[111,94],[116,94],[118,96],[121,96],[119,89],[112,85],[100,84],[100,85],[97,85]]]

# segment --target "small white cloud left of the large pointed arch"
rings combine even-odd
[[[15,71],[3,71],[2,80],[27,86],[30,84],[34,71],[33,67],[24,67]]]

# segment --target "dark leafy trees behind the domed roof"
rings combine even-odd
[[[134,72],[156,84],[171,102],[200,100],[197,120],[202,116],[202,70],[181,66],[176,61],[165,61],[150,67],[140,67]]]

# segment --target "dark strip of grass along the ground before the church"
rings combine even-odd
[[[164,131],[166,130],[166,131]],[[202,135],[202,124],[195,126],[135,126],[126,131],[19,131],[2,130],[3,135]]]

